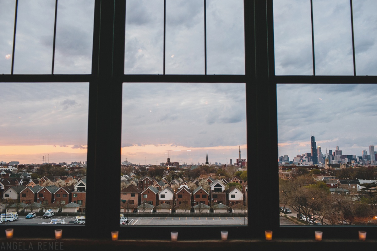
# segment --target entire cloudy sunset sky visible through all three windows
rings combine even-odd
[[[51,74],[54,1],[19,1],[15,74]],[[91,71],[94,1],[58,2],[54,73]],[[313,75],[310,0],[275,0],[276,75]],[[10,74],[15,0],[0,1]],[[202,0],[128,0],[125,74],[204,74]],[[242,1],[207,0],[207,74],[244,74]],[[353,1],[357,75],[377,71],[374,0]],[[313,0],[316,75],[353,75],[349,0]],[[355,83],[357,84],[357,83]],[[86,161],[88,83],[0,84],[0,161]],[[377,145],[373,85],[277,85],[279,155]],[[247,156],[244,84],[124,83],[121,161],[228,163]],[[298,123],[299,122],[299,123]]]

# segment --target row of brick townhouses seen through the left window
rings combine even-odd
[[[3,199],[21,202],[26,205],[39,203],[64,206],[73,202],[84,206],[86,200],[86,179],[79,179],[74,186],[40,186],[31,183],[26,186],[10,186],[4,189]]]

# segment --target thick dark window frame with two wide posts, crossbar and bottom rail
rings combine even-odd
[[[88,82],[89,119],[87,151],[86,225],[77,227],[60,226],[65,237],[102,238],[103,233],[118,229],[120,236],[139,238],[146,229],[153,230],[154,239],[166,239],[170,231],[179,231],[181,239],[218,239],[219,231],[227,230],[238,239],[262,238],[264,231],[274,231],[276,237],[312,238],[314,230],[326,232],[326,236],[352,236],[353,227],[298,227],[280,226],[277,205],[279,204],[278,168],[276,158],[253,158],[269,149],[271,156],[277,152],[277,109],[276,84],[368,84],[377,83],[376,76],[275,76],[273,8],[272,0],[244,0],[245,29],[245,75],[124,75],[125,1],[95,0],[92,73],[79,75],[0,75],[0,83],[17,82]],[[101,47],[100,47],[101,44]],[[245,83],[247,107],[248,160],[253,160],[254,177],[268,177],[268,186],[262,179],[254,179],[251,190],[263,192],[248,194],[248,201],[263,201],[259,206],[249,207],[248,218],[253,219],[245,226],[133,226],[120,227],[120,200],[106,199],[108,191],[120,191],[119,180],[121,160],[121,108],[123,82],[172,82],[172,83]],[[263,95],[260,95],[263,93]],[[112,111],[109,118],[108,111]],[[102,119],[107,117],[109,119]],[[97,119],[100,118],[100,119]],[[111,144],[109,144],[111,142]],[[272,147],[271,147],[272,146]],[[112,169],[103,175],[102,168]],[[270,166],[273,168],[265,168]],[[250,177],[250,175],[249,175]],[[103,184],[102,187],[96,184]],[[140,184],[141,185],[141,184]],[[106,189],[104,189],[106,187]],[[7,194],[4,196],[6,197]],[[8,194],[9,196],[9,194]],[[107,202],[107,220],[97,221],[103,208],[98,207],[98,198]],[[268,199],[266,199],[268,198]],[[276,209],[275,209],[276,208]],[[5,230],[6,226],[0,226]],[[14,225],[18,236],[40,237],[40,232],[50,233],[53,226]],[[363,226],[368,236],[377,228]],[[38,231],[35,231],[38,229]],[[69,230],[68,230],[69,229]],[[83,232],[83,229],[85,231]],[[101,229],[102,231],[97,231]],[[193,231],[195,229],[195,231]],[[84,234],[83,234],[84,233]],[[195,233],[195,236],[193,235]]]

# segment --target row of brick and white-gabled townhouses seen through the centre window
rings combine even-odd
[[[188,208],[195,210],[197,205],[204,205],[206,208],[210,208],[216,204],[224,205],[228,209],[230,207],[243,207],[244,209],[245,205],[247,205],[247,183],[241,181],[242,190],[237,187],[230,187],[225,190],[223,181],[214,180],[211,177],[207,181],[210,184],[209,192],[201,186],[191,191],[185,181],[181,184],[177,180],[168,183],[163,179],[158,182],[148,176],[144,176],[139,179],[138,186],[130,185],[121,190],[121,211],[140,210],[140,207],[145,210],[146,205],[144,204],[149,204],[150,206],[148,207],[154,208],[156,211],[159,209],[171,210],[173,208],[176,211],[187,210]],[[170,186],[166,186],[166,184],[170,186],[177,184],[179,188],[175,191]]]

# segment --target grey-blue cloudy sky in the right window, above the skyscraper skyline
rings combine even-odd
[[[377,73],[377,2],[353,1],[356,73]],[[353,75],[348,0],[314,0],[316,75]],[[274,1],[276,75],[313,75],[310,1]],[[360,156],[377,145],[375,85],[277,85],[279,156],[310,152]]]

